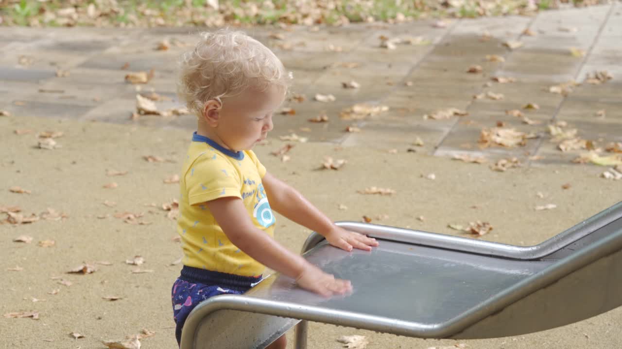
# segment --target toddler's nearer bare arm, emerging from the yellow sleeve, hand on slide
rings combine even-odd
[[[324,273],[255,227],[239,197],[221,197],[206,204],[229,240],[262,265],[295,279],[300,287],[323,296],[351,291],[350,281],[335,279],[333,275]]]

